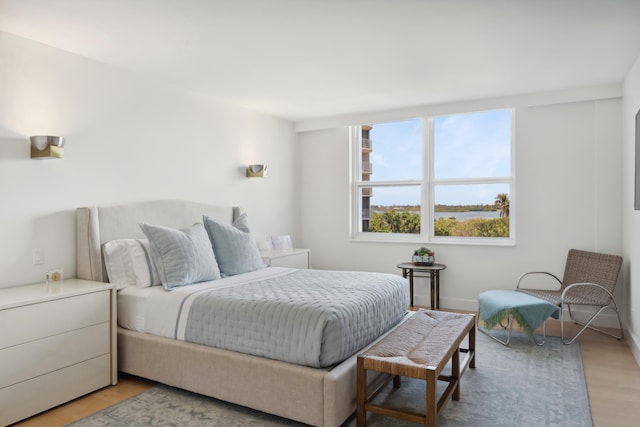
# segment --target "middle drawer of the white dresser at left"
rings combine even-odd
[[[0,350],[0,388],[109,354],[104,322]]]

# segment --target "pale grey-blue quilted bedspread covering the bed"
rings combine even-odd
[[[408,285],[397,275],[295,270],[198,294],[185,340],[316,368],[343,361],[398,324]]]

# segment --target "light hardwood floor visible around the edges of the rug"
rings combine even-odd
[[[547,321],[547,334],[559,335],[559,322]],[[631,426],[640,423],[640,367],[624,341],[587,331],[580,337],[593,425]],[[496,343],[496,345],[500,345]],[[126,374],[118,385],[106,387],[65,405],[36,415],[19,427],[55,427],[86,417],[138,394],[153,382]]]

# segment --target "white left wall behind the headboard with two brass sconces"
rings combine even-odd
[[[41,281],[48,267],[75,275],[78,206],[241,205],[258,237],[293,234],[292,123],[2,32],[0,64],[0,287]],[[37,134],[65,136],[65,158],[31,160]],[[269,178],[245,178],[250,163],[267,163]]]

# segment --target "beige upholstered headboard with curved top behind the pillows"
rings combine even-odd
[[[116,239],[143,239],[140,223],[183,228],[202,222],[203,215],[233,223],[242,214],[240,207],[158,200],[118,206],[84,207],[76,212],[77,276],[107,282],[102,245]]]

